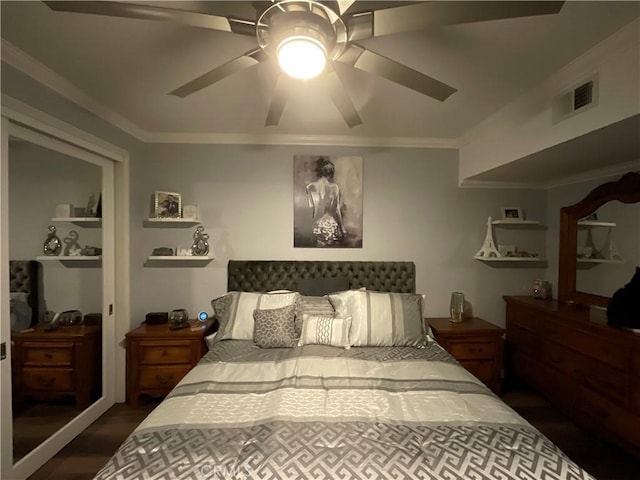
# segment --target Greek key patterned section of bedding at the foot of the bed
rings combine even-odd
[[[527,426],[273,422],[135,433],[98,479],[590,477]]]

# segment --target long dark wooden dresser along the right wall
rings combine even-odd
[[[508,377],[640,458],[640,335],[555,300],[504,299]]]

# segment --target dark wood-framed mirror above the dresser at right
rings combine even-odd
[[[606,307],[640,266],[640,173],[560,209],[558,299]]]

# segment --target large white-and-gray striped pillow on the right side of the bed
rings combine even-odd
[[[427,341],[422,295],[348,290],[329,299],[336,316],[352,318],[353,346],[422,346]]]

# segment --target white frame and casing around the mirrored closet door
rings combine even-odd
[[[118,348],[129,324],[129,156],[110,145],[55,117],[3,95],[2,97],[2,159],[0,161],[0,262],[8,265],[8,165],[9,137],[52,148],[98,165],[102,169],[103,191],[103,325],[102,325],[102,397],[81,412],[67,425],[13,463],[13,421],[11,411],[11,334],[9,322],[0,322],[0,341],[4,342],[6,358],[0,362],[2,409],[0,412],[0,476],[26,479],[52,458],[67,443],[93,423],[116,401],[124,401],[124,349]],[[10,104],[10,105],[8,105]],[[116,218],[116,211],[118,215]],[[123,212],[121,214],[120,212]],[[116,255],[117,252],[117,255]],[[36,252],[34,252],[35,254]],[[9,275],[0,275],[0,314],[9,318]],[[116,278],[118,287],[116,288]],[[112,312],[109,314],[109,312]]]

